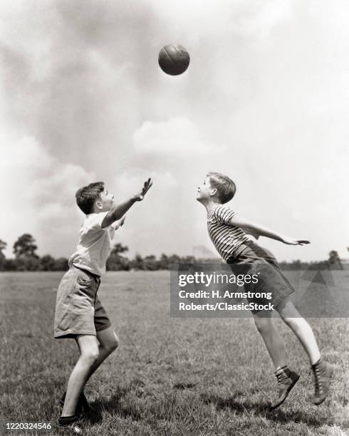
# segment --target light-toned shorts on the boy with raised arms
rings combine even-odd
[[[58,286],[54,322],[55,338],[93,335],[111,326],[97,291],[100,276],[71,266]]]

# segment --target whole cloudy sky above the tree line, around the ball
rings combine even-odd
[[[31,233],[70,256],[75,192],[115,201],[154,185],[115,235],[130,254],[206,246],[197,186],[237,186],[241,216],[308,246],[261,238],[279,260],[349,253],[346,0],[0,1],[0,239]],[[167,76],[160,48],[189,68]]]

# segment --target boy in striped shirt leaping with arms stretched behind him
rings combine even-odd
[[[259,274],[258,284],[246,284],[245,289],[272,293],[269,302],[274,305],[281,319],[291,328],[308,354],[315,381],[313,403],[320,405],[328,395],[333,368],[321,359],[311,326],[293,306],[289,295],[294,289],[281,273],[275,257],[269,250],[251,241],[246,233],[253,234],[257,239],[264,236],[284,244],[303,245],[309,242],[305,239],[283,236],[237,215],[223,205],[234,197],[235,192],[234,182],[218,172],[209,172],[203,185],[198,188],[197,200],[207,209],[209,237],[233,272],[243,270],[244,274]],[[249,299],[249,302],[259,303],[254,298]],[[276,369],[278,399],[271,406],[274,409],[286,400],[299,375],[288,369],[285,346],[278,329],[274,326],[272,311],[255,310],[252,313],[256,328]]]

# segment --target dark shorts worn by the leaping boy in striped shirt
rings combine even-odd
[[[237,274],[256,274],[257,283],[245,284],[246,292],[253,294],[248,298],[249,303],[274,305],[274,309],[286,296],[292,294],[295,289],[281,272],[278,261],[271,251],[262,248],[252,241],[244,242],[244,249],[234,259],[228,259],[231,271]],[[260,298],[259,294],[268,294],[269,298]],[[256,296],[256,297],[255,297]],[[258,298],[257,298],[258,296]],[[257,313],[259,310],[253,310]]]

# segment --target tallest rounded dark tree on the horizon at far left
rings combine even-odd
[[[36,271],[40,267],[36,254],[38,246],[31,234],[22,234],[14,243],[15,264],[18,271]]]

